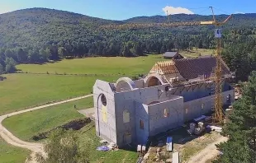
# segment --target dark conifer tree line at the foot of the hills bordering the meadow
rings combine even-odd
[[[104,32],[104,31],[102,31]],[[106,32],[106,31],[105,31]],[[119,31],[108,39],[93,40],[92,43],[62,41],[40,47],[0,48],[0,72],[14,72],[17,63],[47,63],[61,58],[84,58],[93,56],[135,57],[145,54],[163,54],[172,50],[215,49],[216,40],[212,32],[197,35],[162,33],[149,35],[146,30]],[[144,32],[144,35],[139,35]],[[222,58],[236,79],[245,81],[249,73],[256,70],[256,38],[254,29],[225,31]],[[149,38],[144,38],[149,35]],[[102,36],[103,38],[104,36]]]

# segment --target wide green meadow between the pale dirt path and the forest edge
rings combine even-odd
[[[97,79],[115,82],[121,76],[147,73],[161,59],[159,55],[138,58],[75,58],[43,65],[18,65],[17,68],[22,72],[65,72],[97,76],[7,74],[7,80],[1,81],[0,85],[0,115],[48,101],[90,94]]]

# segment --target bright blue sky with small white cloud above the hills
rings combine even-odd
[[[207,9],[209,6],[216,7],[216,14],[256,12],[255,0],[0,0],[0,13],[46,7],[124,20],[134,16],[165,15],[166,10],[172,14],[184,12],[210,15],[211,11]]]

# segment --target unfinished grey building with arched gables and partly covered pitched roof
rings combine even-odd
[[[148,137],[177,128],[211,112],[215,57],[173,59],[155,63],[149,74],[116,83],[97,80],[93,86],[96,134],[117,146],[145,144]],[[233,73],[222,61],[222,98],[235,100]]]

